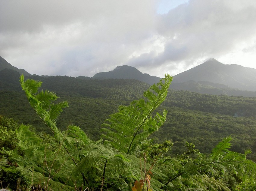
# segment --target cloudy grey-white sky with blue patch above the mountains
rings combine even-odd
[[[1,0],[0,56],[53,76],[174,76],[209,58],[256,68],[256,1]]]

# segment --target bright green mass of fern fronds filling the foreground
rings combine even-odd
[[[20,77],[27,98],[46,126],[54,134],[58,152],[48,151],[47,144],[20,126],[17,136],[23,157],[12,156],[18,169],[31,177],[33,185],[44,190],[131,190],[139,180],[153,190],[229,190],[222,177],[229,173],[243,180],[255,179],[256,165],[245,154],[229,151],[231,137],[223,139],[210,155],[197,153],[196,158],[151,157],[142,154],[142,145],[163,125],[167,111],[156,112],[164,101],[172,77],[165,75],[157,85],[144,93],[144,99],[120,106],[102,129],[102,140],[92,141],[79,127],[70,125],[61,132],[56,118],[67,102],[55,103],[57,95],[38,92],[42,82]],[[64,154],[64,149],[66,154]],[[141,156],[144,156],[143,160]],[[149,162],[146,162],[149,161]],[[4,167],[5,159],[0,169]],[[73,162],[73,163],[71,163]],[[147,179],[150,174],[150,179]],[[147,187],[148,189],[149,187]],[[148,189],[148,190],[150,190]]]

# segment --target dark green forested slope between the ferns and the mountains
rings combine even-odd
[[[0,115],[14,118],[18,123],[31,124],[40,131],[47,130],[27,103],[18,79],[16,73],[6,75],[5,81],[2,80]],[[42,89],[54,91],[60,100],[69,103],[57,120],[58,127],[65,130],[67,125],[75,124],[94,140],[101,135],[101,124],[117,111],[119,105],[141,98],[150,87],[133,79],[98,80],[82,76],[33,76],[33,79],[42,81]],[[209,153],[217,142],[230,135],[234,151],[242,153],[246,148],[253,153],[256,151],[255,97],[217,96],[170,89],[161,107],[168,110],[167,120],[151,138],[155,142],[172,140],[176,153],[182,153],[186,148],[175,148],[175,145],[186,141],[195,143],[201,152]],[[254,159],[254,154],[248,157]]]

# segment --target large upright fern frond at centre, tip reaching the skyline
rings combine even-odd
[[[105,143],[110,143],[120,152],[138,154],[141,143],[154,131],[157,131],[164,123],[167,111],[163,114],[155,112],[155,109],[164,101],[172,77],[165,75],[157,85],[152,85],[144,92],[146,100],[133,101],[130,106],[120,106],[119,112],[111,115],[102,129],[106,135],[102,135]]]

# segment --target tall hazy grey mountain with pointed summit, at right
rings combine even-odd
[[[214,87],[214,83],[215,85],[223,84],[229,88],[244,91],[256,91],[256,69],[236,64],[222,64],[214,58],[173,76],[173,84],[188,83],[191,80],[197,82],[197,85],[203,81],[204,85],[210,85],[212,87]]]

